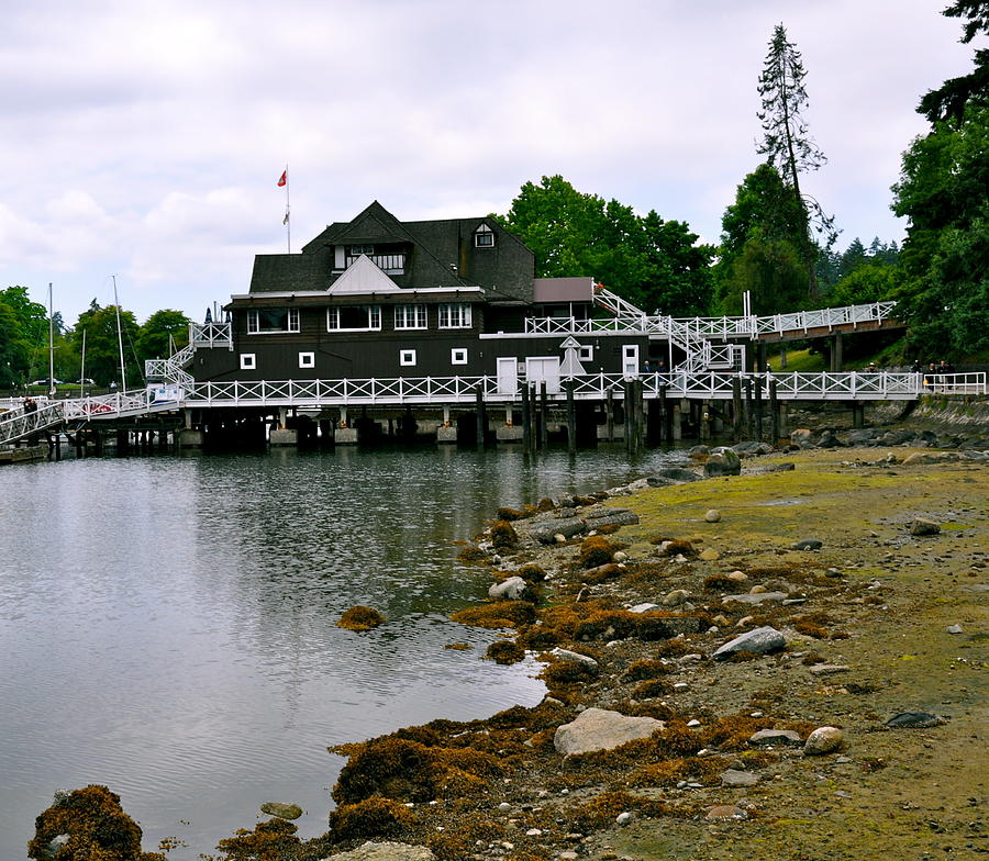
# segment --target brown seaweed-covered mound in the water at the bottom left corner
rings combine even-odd
[[[58,861],[164,861],[158,852],[141,851],[141,826],[120,806],[120,796],[107,786],[91,784],[59,793],[55,803],[35,819],[27,857],[54,857],[52,840],[68,835],[57,849]]]

